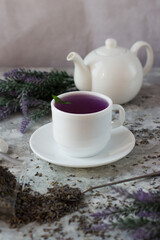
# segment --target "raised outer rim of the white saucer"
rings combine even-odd
[[[106,160],[105,162],[97,162],[97,163],[95,163],[95,164],[89,164],[88,163],[88,165],[87,165],[87,162],[86,162],[86,164],[76,164],[76,165],[74,165],[73,164],[73,162],[70,164],[70,163],[68,163],[68,162],[66,162],[66,163],[58,163],[57,161],[55,162],[54,160],[50,160],[49,158],[47,158],[47,157],[43,157],[41,154],[39,154],[34,148],[33,148],[33,146],[32,146],[32,139],[34,138],[34,136],[37,134],[37,132],[39,132],[40,130],[42,130],[42,128],[45,128],[45,127],[51,127],[51,125],[52,125],[52,122],[49,122],[49,123],[47,123],[47,124],[44,124],[44,125],[42,125],[41,127],[39,127],[38,129],[36,129],[33,133],[32,133],[32,135],[31,135],[31,137],[30,137],[30,139],[29,139],[29,146],[30,146],[30,148],[31,148],[31,150],[32,150],[32,152],[38,157],[38,158],[40,158],[40,159],[42,159],[42,160],[44,160],[44,161],[47,161],[47,162],[49,162],[49,163],[52,163],[52,164],[55,164],[55,165],[57,165],[57,166],[61,166],[61,167],[69,167],[69,168],[94,168],[94,167],[100,167],[100,166],[105,166],[105,165],[108,165],[108,164],[111,164],[111,163],[113,163],[113,162],[116,162],[116,161],[118,161],[118,160],[120,160],[120,159],[122,159],[123,157],[125,157],[125,156],[127,156],[132,150],[133,150],[133,148],[135,147],[135,136],[133,135],[133,133],[127,128],[127,127],[125,127],[125,126],[120,126],[120,127],[118,127],[118,128],[115,128],[115,129],[112,129],[112,131],[111,131],[111,134],[112,134],[112,132],[115,132],[115,131],[118,131],[118,129],[124,129],[124,130],[127,130],[128,131],[128,133],[130,134],[130,136],[132,137],[132,144],[131,144],[131,146],[129,146],[128,147],[128,149],[127,150],[125,150],[125,151],[123,151],[122,153],[118,153],[118,154],[115,154],[115,158],[114,159],[110,159],[110,160]],[[109,140],[110,141],[110,140]],[[54,143],[54,140],[53,140],[53,143]],[[97,155],[95,155],[95,156],[98,156],[98,155],[100,155],[101,154],[101,152],[100,153],[98,153]],[[64,155],[61,155],[61,153],[59,154],[60,156],[62,156],[62,157],[64,157]],[[71,159],[71,160],[73,160],[73,159],[76,159],[76,160],[81,160],[81,159],[85,159],[86,161],[87,161],[87,159],[91,159],[91,158],[94,158],[95,156],[93,156],[93,157],[86,157],[86,158],[80,158],[80,157],[78,157],[78,158],[76,158],[76,157],[71,157],[71,156],[67,156],[66,155],[66,159],[68,158],[68,159]]]

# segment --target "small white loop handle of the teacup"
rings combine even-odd
[[[118,119],[112,121],[112,128],[117,128],[123,125],[125,121],[125,111],[124,108],[119,104],[113,104],[112,110],[119,111]]]

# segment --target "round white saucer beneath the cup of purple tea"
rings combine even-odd
[[[88,158],[73,158],[60,152],[52,136],[52,123],[37,129],[30,138],[32,151],[50,163],[75,168],[88,168],[106,165],[126,156],[135,145],[134,135],[126,128],[112,130],[108,145],[99,154]]]

